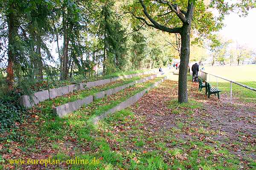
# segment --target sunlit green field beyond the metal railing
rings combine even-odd
[[[241,84],[256,88],[256,65],[235,65],[235,66],[207,66],[205,72],[230,79]],[[207,81],[217,86],[217,79],[214,76],[207,76]],[[218,88],[230,95],[230,82],[218,78]],[[256,102],[256,91],[232,84],[233,96],[244,102]]]

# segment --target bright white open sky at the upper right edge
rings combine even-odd
[[[233,45],[238,42],[249,48],[256,49],[256,8],[250,9],[247,17],[239,17],[238,14],[231,13],[225,17],[225,27],[219,33],[232,39]]]

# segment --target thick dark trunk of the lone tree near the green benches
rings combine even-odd
[[[189,66],[189,45],[190,45],[190,31],[191,22],[194,12],[194,4],[188,4],[187,18],[189,23],[183,24],[180,33],[181,36],[181,49],[180,49],[180,69],[179,69],[179,89],[178,89],[178,102],[188,102],[187,91],[187,71]]]

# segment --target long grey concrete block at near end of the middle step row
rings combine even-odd
[[[74,102],[68,102],[52,109],[53,113],[60,117],[66,116],[68,113],[78,110],[82,105],[87,105],[93,102],[93,96],[87,96],[84,99],[79,99]]]

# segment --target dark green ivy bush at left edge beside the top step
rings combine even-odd
[[[20,96],[19,91],[0,94],[0,133],[22,121],[26,109],[20,106]]]

